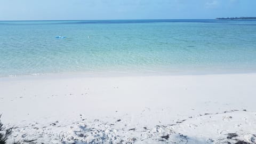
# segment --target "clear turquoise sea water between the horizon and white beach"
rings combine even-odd
[[[256,72],[256,21],[0,21],[1,77],[95,71]]]

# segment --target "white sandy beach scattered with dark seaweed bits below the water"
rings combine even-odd
[[[0,113],[30,143],[253,143],[255,87],[256,74],[5,77]]]

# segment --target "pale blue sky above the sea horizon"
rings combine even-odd
[[[256,17],[256,0],[0,0],[0,20]]]

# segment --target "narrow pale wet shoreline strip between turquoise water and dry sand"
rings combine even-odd
[[[256,74],[255,70],[247,71],[172,71],[172,72],[123,72],[123,71],[91,71],[91,72],[72,72],[72,73],[42,73],[29,75],[9,75],[0,76],[0,81],[8,81],[9,79],[41,79],[41,78],[85,78],[85,77],[147,77],[147,76],[197,76],[197,75],[236,75],[236,74]]]

